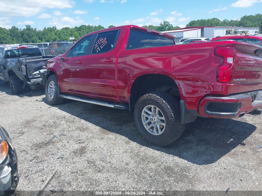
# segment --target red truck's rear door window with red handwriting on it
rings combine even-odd
[[[92,54],[100,54],[113,50],[117,43],[119,32],[120,30],[98,33]]]

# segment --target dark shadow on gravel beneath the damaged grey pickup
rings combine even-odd
[[[18,96],[18,97],[34,97],[34,96],[40,96],[40,95],[44,95],[44,88],[43,86],[39,86],[38,88],[31,90],[29,86],[26,86],[23,90],[22,94],[19,95],[13,95],[11,93],[11,89],[9,86],[9,83],[7,82],[1,82],[0,83],[0,93],[1,92],[5,92],[8,95],[12,95],[12,96]]]

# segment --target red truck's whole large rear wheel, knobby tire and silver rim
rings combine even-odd
[[[177,140],[184,131],[180,104],[170,94],[145,94],[135,104],[135,123],[149,142],[166,146]]]

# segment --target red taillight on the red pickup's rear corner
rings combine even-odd
[[[218,47],[215,56],[223,58],[223,64],[217,67],[216,81],[228,83],[231,81],[234,47]]]

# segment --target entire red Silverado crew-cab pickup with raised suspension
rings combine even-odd
[[[46,98],[134,110],[143,137],[165,146],[197,116],[238,118],[262,108],[261,57],[251,43],[175,45],[172,35],[114,27],[47,61]]]

